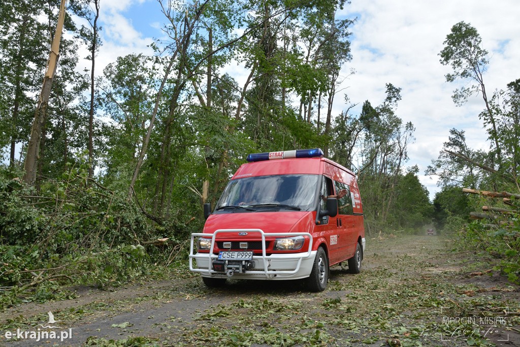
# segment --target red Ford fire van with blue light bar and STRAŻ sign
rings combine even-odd
[[[230,277],[305,278],[311,291],[327,287],[331,265],[348,261],[359,273],[365,229],[355,175],[319,148],[247,160],[214,211],[204,205],[203,232],[191,234],[190,270],[208,287]]]

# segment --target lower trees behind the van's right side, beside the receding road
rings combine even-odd
[[[415,128],[410,122],[403,124],[394,112],[400,91],[387,83],[386,97],[379,106],[372,107],[367,100],[359,115],[347,110],[334,122],[332,159],[358,175],[369,235],[417,230],[432,217],[433,207],[416,175],[417,166],[404,174]]]

